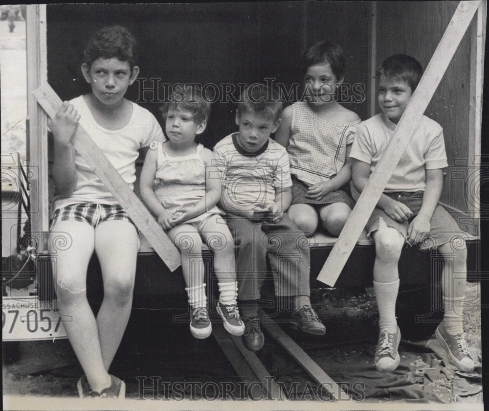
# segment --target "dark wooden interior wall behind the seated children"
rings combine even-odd
[[[122,24],[139,41],[141,69],[127,97],[154,113],[163,126],[158,100],[164,94],[162,87],[158,94],[156,82],[237,86],[273,78],[289,88],[301,82],[298,73],[301,54],[317,41],[330,40],[344,49],[345,83],[361,85],[366,94],[362,101],[343,104],[364,120],[370,112],[369,62],[377,67],[392,54],[406,53],[426,68],[457,4],[452,1],[48,4],[48,81],[63,99],[89,92],[80,71],[85,44],[99,28]],[[374,28],[373,6],[377,21]],[[472,21],[425,112],[444,128],[449,168],[441,201],[464,212],[477,208],[478,202],[472,164],[474,160],[480,161],[473,156],[480,141],[471,134],[470,119],[470,107],[475,104],[471,97],[474,87],[471,71],[477,58],[471,49],[475,38],[476,25]],[[375,56],[370,50],[374,40]],[[143,92],[143,88],[153,91]],[[208,127],[202,136],[208,148],[236,131],[235,110],[235,103],[212,104]],[[378,107],[375,111],[378,112]]]

